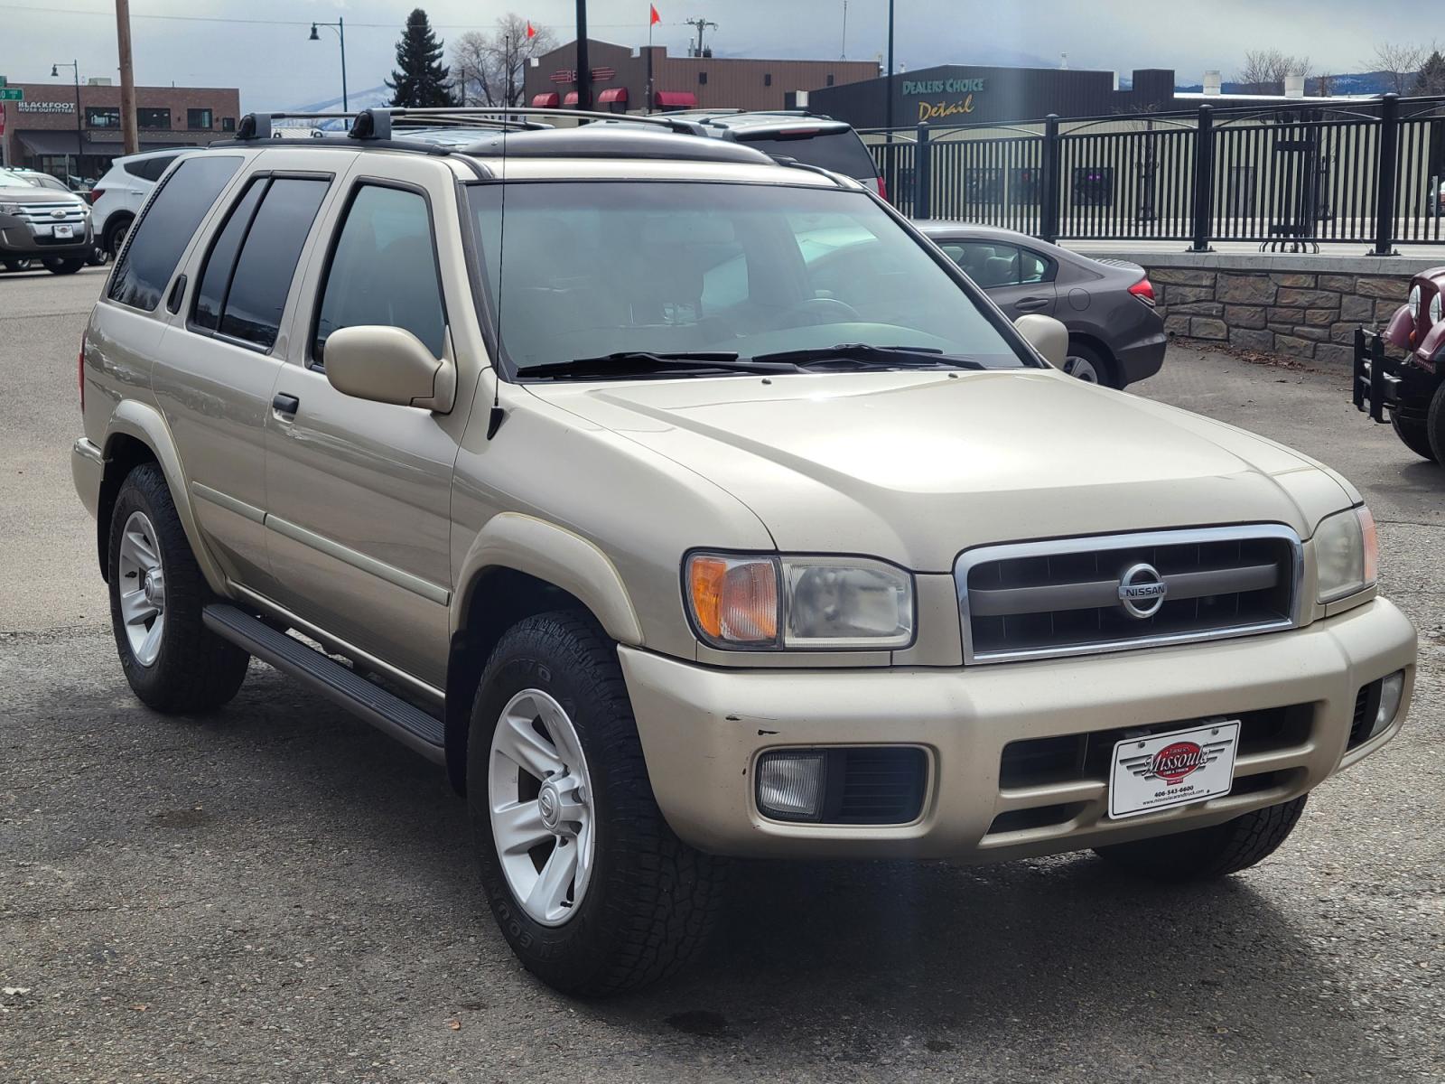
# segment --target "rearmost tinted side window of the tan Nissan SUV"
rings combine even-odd
[[[181,253],[191,243],[191,234],[240,165],[241,159],[230,155],[201,155],[176,168],[126,243],[124,256],[110,280],[111,301],[155,311]]]

